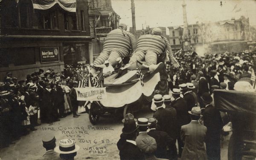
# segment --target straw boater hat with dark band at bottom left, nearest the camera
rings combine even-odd
[[[64,139],[59,142],[59,145],[54,148],[54,151],[60,154],[70,154],[78,151],[79,145],[76,145],[73,140]]]

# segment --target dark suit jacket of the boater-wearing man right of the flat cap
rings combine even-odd
[[[157,142],[157,151],[155,152],[155,156],[157,158],[166,158],[168,159],[168,151],[167,147],[175,144],[176,140],[172,139],[166,132],[158,131],[156,129],[151,129],[148,131],[148,135],[153,137]],[[171,147],[169,147],[171,148]]]

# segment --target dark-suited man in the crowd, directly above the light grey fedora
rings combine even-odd
[[[204,104],[202,99],[200,98],[203,93],[209,92],[208,82],[204,77],[204,73],[202,71],[198,72],[199,82],[198,82],[198,102],[200,104],[200,108],[204,108]]]

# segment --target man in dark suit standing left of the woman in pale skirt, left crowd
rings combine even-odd
[[[61,88],[61,80],[56,81],[56,98],[55,98],[55,106],[59,110],[59,114],[61,118],[64,118],[64,91]]]

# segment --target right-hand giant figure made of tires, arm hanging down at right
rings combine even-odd
[[[171,45],[169,41],[161,35],[159,28],[154,28],[151,35],[142,35],[137,41],[137,49],[131,56],[129,64],[136,63],[136,61],[145,61],[149,66],[149,71],[154,71],[157,68],[157,55],[167,50],[169,52],[169,59],[175,67],[179,67],[179,63],[174,58]]]

